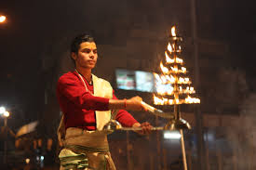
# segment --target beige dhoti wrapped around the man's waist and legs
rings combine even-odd
[[[66,130],[64,149],[59,155],[61,170],[115,170],[107,136],[102,131],[70,127]]]

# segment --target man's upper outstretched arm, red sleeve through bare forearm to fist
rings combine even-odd
[[[88,111],[108,111],[114,109],[127,109],[131,111],[146,110],[141,105],[142,99],[140,97],[129,99],[94,97],[86,90],[80,79],[73,75],[61,76],[58,81],[57,92],[61,97],[68,98],[77,107]]]

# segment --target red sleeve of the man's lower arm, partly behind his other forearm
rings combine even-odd
[[[113,90],[113,99],[117,99]],[[125,127],[131,127],[133,124],[138,123],[128,111],[119,110],[116,114],[116,120]]]

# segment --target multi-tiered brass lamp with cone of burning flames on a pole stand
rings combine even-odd
[[[155,105],[173,105],[174,119],[170,119],[165,125],[165,130],[179,130],[182,138],[182,157],[184,169],[187,169],[186,154],[183,139],[183,129],[190,129],[191,126],[181,117],[180,105],[200,103],[199,98],[191,97],[195,94],[192,82],[186,77],[187,70],[181,59],[182,37],[177,36],[175,27],[171,28],[167,51],[165,51],[165,62],[161,61],[161,74],[155,73],[156,94],[154,95]]]

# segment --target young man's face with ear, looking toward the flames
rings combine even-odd
[[[75,66],[85,69],[93,69],[98,59],[97,47],[94,42],[83,42],[77,54],[72,53]]]

